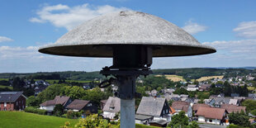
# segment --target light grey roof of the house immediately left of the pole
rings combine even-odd
[[[108,97],[105,106],[103,107],[102,111],[109,111],[109,112],[118,112],[120,111],[120,98],[119,97]],[[111,107],[113,109],[111,109]]]

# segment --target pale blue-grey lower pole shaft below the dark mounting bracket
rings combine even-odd
[[[135,98],[121,99],[121,128],[135,128]]]

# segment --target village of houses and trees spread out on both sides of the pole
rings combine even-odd
[[[232,115],[243,113],[248,117],[246,118],[247,123],[254,126],[256,123],[256,112],[254,112],[256,108],[248,107],[250,105],[244,103],[256,101],[255,90],[248,89],[255,86],[254,76],[255,74],[249,73],[232,78],[209,78],[193,82],[178,81],[176,83],[179,83],[179,86],[175,84],[173,88],[144,90],[144,92],[140,92],[142,95],[137,97],[139,102],[136,103],[135,107],[135,123],[145,126],[167,127],[173,121],[173,116],[184,114],[187,116],[187,122],[230,126],[230,124],[236,123],[233,121],[232,118],[234,117]],[[154,76],[154,78],[159,78],[159,76]],[[9,87],[13,86],[13,82],[12,79]],[[111,85],[109,88],[97,88],[97,86],[90,83],[80,83],[80,87],[72,86],[72,88],[85,91],[92,90],[93,92],[97,90],[97,93],[102,94],[108,91],[108,95],[98,98],[97,102],[93,100],[93,97],[93,101],[85,100],[88,98],[84,97],[74,98],[73,95],[78,95],[78,90],[69,94],[69,96],[63,93],[59,93],[60,95],[52,93],[52,99],[35,102],[37,97],[41,97],[40,92],[44,93],[48,87],[51,88],[62,83],[64,81],[50,84],[47,80],[42,79],[36,81],[23,79],[22,88],[31,88],[35,93],[26,97],[22,91],[0,92],[0,111],[26,111],[72,119],[86,118],[91,114],[98,114],[107,121],[118,121],[120,119],[121,99],[116,97],[118,87],[115,85]],[[139,78],[137,83],[145,83],[145,79]],[[69,90],[66,90],[66,92],[72,92],[72,88],[65,86],[65,88],[67,87],[69,87]],[[47,92],[47,95],[50,95],[50,93]],[[94,98],[97,98],[97,96]]]

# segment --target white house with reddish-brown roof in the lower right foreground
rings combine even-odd
[[[227,114],[225,109],[216,107],[199,107],[196,113],[198,122],[215,125],[225,125]]]

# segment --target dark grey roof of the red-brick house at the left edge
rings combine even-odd
[[[0,102],[15,102],[23,92],[0,92]]]

